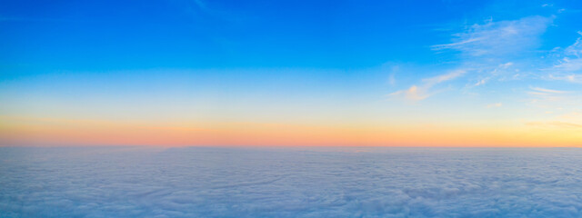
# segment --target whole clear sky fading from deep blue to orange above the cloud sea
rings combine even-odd
[[[2,146],[582,146],[579,1],[0,5]]]

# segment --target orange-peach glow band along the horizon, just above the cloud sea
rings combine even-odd
[[[155,124],[1,117],[0,145],[580,147],[577,129],[446,124]]]

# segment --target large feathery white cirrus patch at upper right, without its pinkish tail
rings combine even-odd
[[[472,69],[467,76],[469,88],[522,79],[527,74],[520,68],[531,65],[528,58],[537,58],[541,35],[553,20],[553,16],[539,15],[517,20],[490,19],[485,24],[467,25],[464,31],[452,35],[451,43],[433,45],[432,48],[439,52],[461,53],[460,64]]]

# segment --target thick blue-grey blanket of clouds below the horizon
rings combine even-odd
[[[576,149],[0,148],[3,217],[579,217]]]

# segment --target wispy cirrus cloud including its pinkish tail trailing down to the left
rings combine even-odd
[[[518,20],[489,20],[486,24],[467,25],[465,31],[453,35],[452,43],[432,46],[436,51],[460,51],[460,67],[457,66],[457,69],[447,74],[421,79],[421,84],[413,84],[389,95],[407,100],[424,100],[437,93],[432,90],[434,85],[463,74],[469,74],[468,86],[484,85],[496,79],[517,78],[519,70],[507,56],[535,48],[540,35],[552,20],[552,17],[528,16]]]

